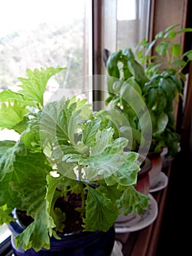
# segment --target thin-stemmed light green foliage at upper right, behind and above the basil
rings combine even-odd
[[[177,29],[180,24],[169,26],[164,31],[155,35],[153,42],[142,39],[137,45],[137,60],[140,64],[146,65],[145,73],[148,78],[163,71],[174,75],[185,82],[185,75],[182,71],[192,59],[192,50],[182,54],[182,47],[174,42],[180,34],[191,32],[192,29]],[[155,55],[151,56],[151,50],[155,47]]]

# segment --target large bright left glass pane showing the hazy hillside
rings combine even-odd
[[[85,0],[7,0],[0,15],[0,89],[18,83],[26,69],[66,67],[49,91],[88,74],[88,19]],[[85,91],[76,80],[70,91]]]

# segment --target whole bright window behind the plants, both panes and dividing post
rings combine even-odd
[[[96,77],[94,83],[91,75],[106,74],[104,49],[112,53],[147,37],[149,12],[150,0],[3,1],[0,91],[16,90],[18,75],[25,76],[27,68],[61,66],[66,70],[50,81],[45,100],[61,86],[69,95],[96,90],[86,95],[96,101],[105,80]],[[18,140],[18,135],[0,131],[0,140],[5,138]],[[0,244],[7,236],[3,225]]]

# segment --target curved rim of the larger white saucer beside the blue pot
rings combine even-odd
[[[133,225],[131,225],[130,222],[124,222],[123,226],[122,224],[118,226],[118,224],[115,223],[116,233],[127,233],[141,230],[142,228],[147,227],[154,222],[158,215],[158,204],[152,195],[149,194],[149,197],[150,204],[147,210],[143,211],[141,219],[139,219],[139,221],[137,223],[134,223]]]

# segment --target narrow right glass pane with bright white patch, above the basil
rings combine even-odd
[[[135,48],[148,37],[150,0],[117,0],[117,48]]]

